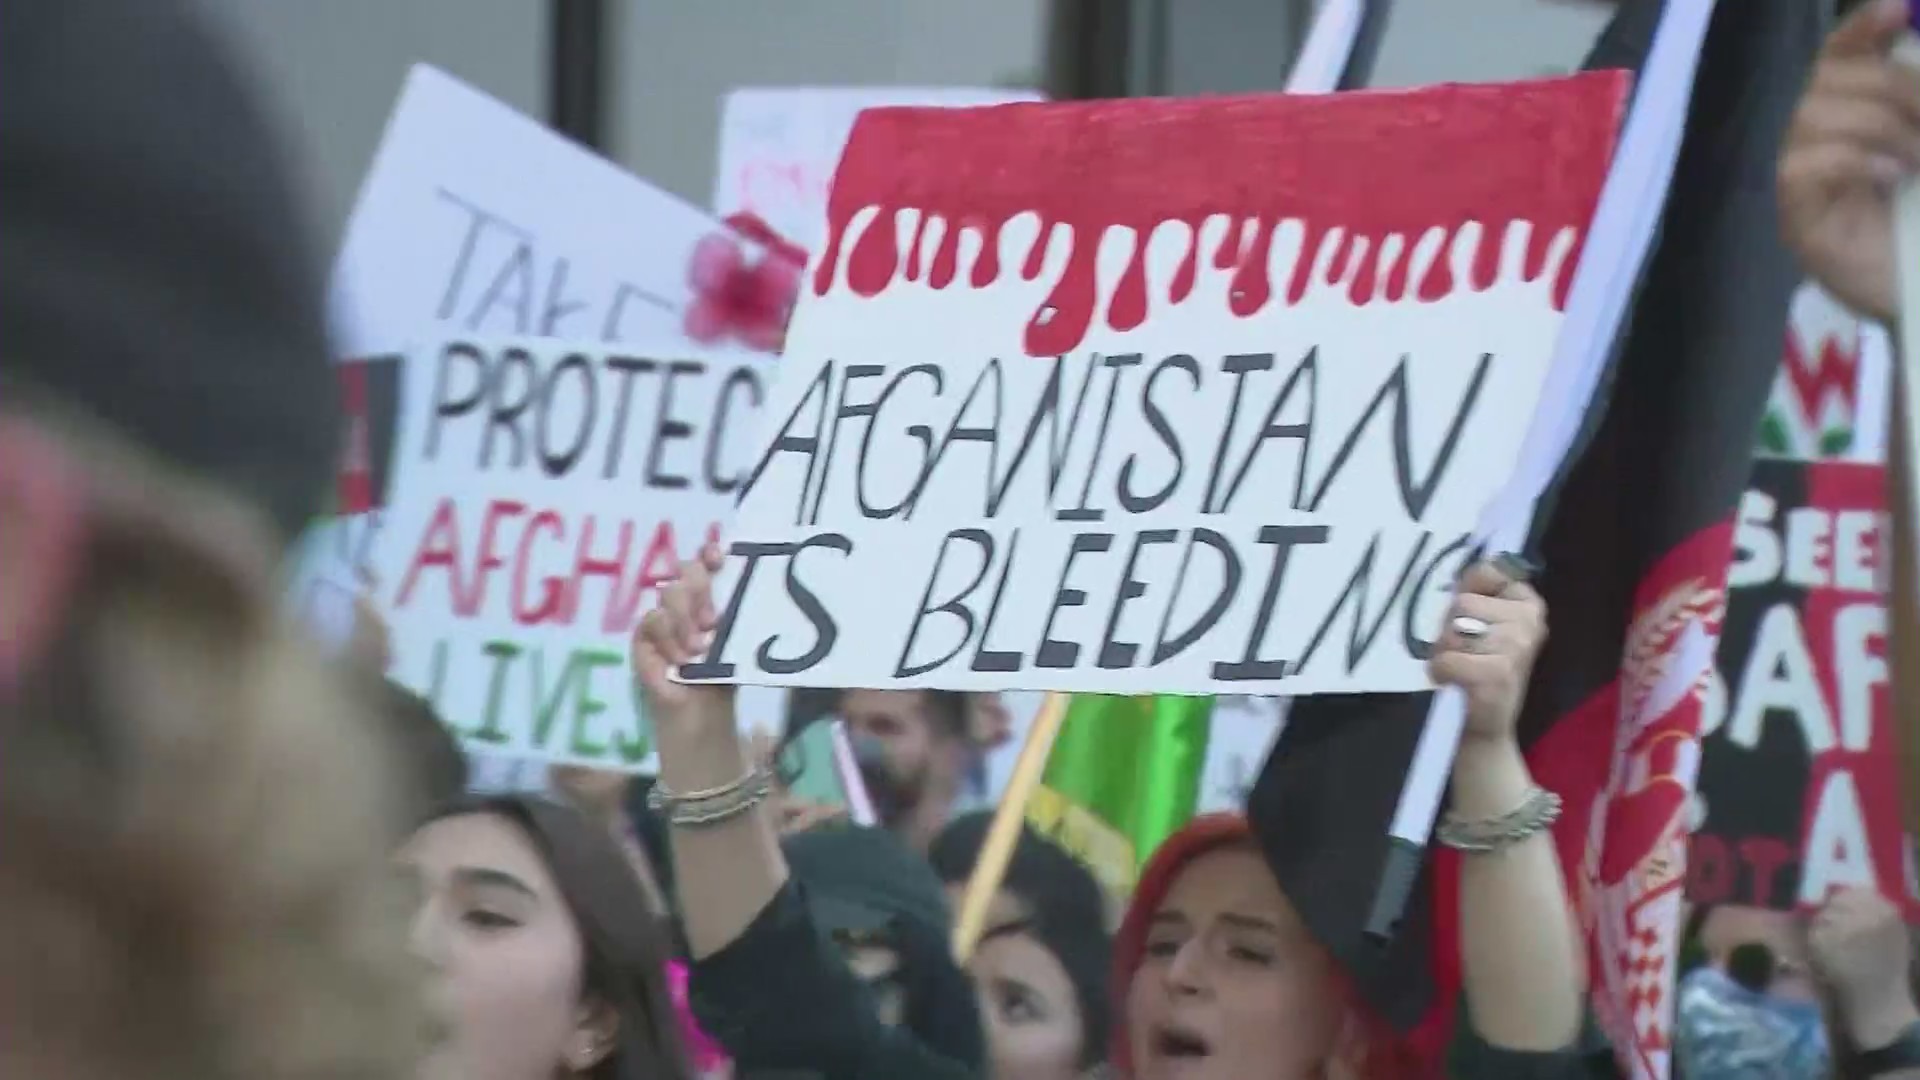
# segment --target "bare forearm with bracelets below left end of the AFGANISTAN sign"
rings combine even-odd
[[[660,732],[660,784],[668,792],[707,792],[737,782],[749,753],[733,724],[701,724],[697,734]],[[787,884],[766,803],[712,824],[672,826],[674,882],[693,959],[737,940]]]

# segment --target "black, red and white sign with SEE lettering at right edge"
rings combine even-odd
[[[1910,894],[1887,665],[1887,477],[1855,434],[1862,402],[1884,407],[1862,379],[1866,331],[1812,284],[1793,298],[1703,719],[1688,855],[1697,903],[1816,907],[1837,886]]]

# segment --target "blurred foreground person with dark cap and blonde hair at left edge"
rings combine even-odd
[[[413,1074],[394,744],[280,611],[300,225],[196,6],[0,6],[0,1076]]]

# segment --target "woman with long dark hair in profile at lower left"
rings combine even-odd
[[[668,942],[612,840],[532,796],[472,799],[401,849],[444,1038],[424,1080],[691,1080]]]

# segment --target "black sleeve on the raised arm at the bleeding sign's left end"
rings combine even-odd
[[[814,928],[799,882],[780,890],[726,949],[693,963],[689,999],[701,1028],[733,1055],[741,1076],[970,1080],[983,1074],[941,1057],[912,1032],[879,1022],[866,988]]]

